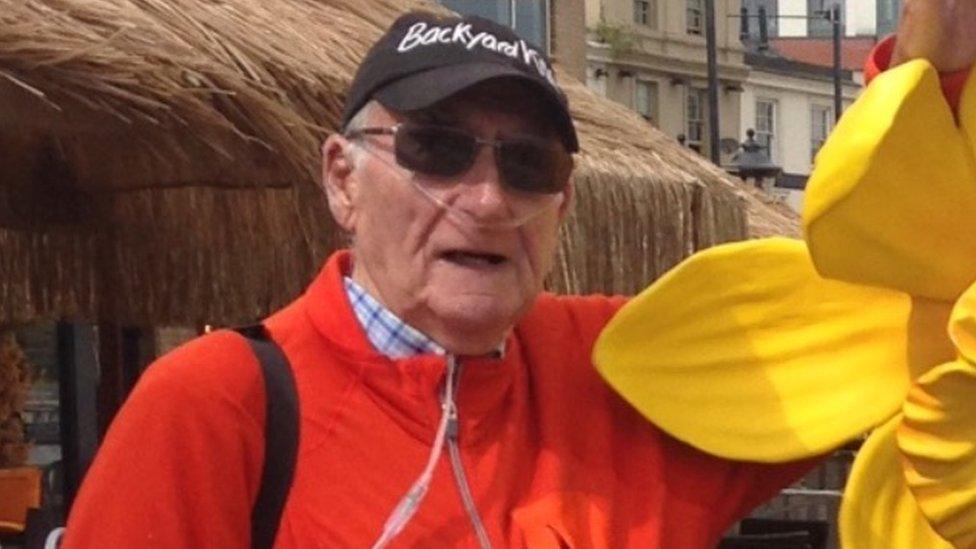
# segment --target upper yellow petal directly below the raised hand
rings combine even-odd
[[[804,225],[831,278],[953,301],[976,280],[976,168],[938,75],[925,61],[886,71],[817,157]]]

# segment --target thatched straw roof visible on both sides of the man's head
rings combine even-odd
[[[421,1],[0,0],[0,322],[239,322],[343,242],[315,183],[362,54]],[[556,289],[633,292],[690,251],[796,231],[566,83],[583,153]],[[758,214],[758,215],[756,215]]]

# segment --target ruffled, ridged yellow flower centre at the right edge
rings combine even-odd
[[[957,547],[976,547],[976,286],[956,304],[949,332],[964,358],[912,387],[898,446],[932,527]]]

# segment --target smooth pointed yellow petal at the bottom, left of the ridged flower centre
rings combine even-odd
[[[861,447],[840,507],[845,549],[952,549],[925,520],[905,485],[895,429],[901,416],[879,427]]]

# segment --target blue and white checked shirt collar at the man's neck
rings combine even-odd
[[[406,358],[426,353],[446,354],[443,347],[400,320],[362,286],[353,282],[352,278],[343,277],[342,282],[346,287],[349,304],[366,332],[366,338],[381,354],[389,358]]]

